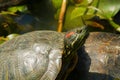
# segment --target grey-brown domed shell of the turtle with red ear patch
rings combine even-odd
[[[55,80],[61,68],[64,34],[35,31],[0,46],[0,80]]]

